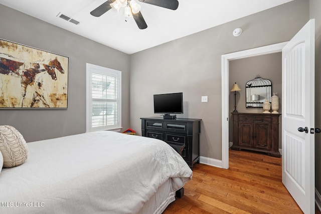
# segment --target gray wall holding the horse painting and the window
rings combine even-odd
[[[122,126],[129,127],[129,55],[0,5],[0,38],[69,57],[68,109],[0,110],[27,142],[86,131],[86,63],[122,71]]]

